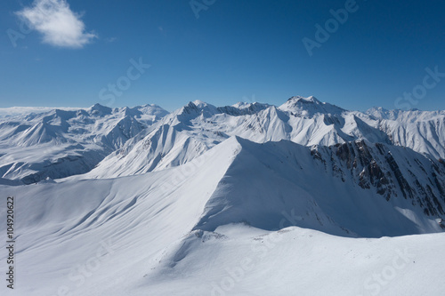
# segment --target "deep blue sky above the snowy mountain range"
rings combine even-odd
[[[193,1],[195,11],[190,0],[2,1],[0,107],[173,110],[314,95],[348,109],[445,109],[442,0]],[[318,44],[312,56],[303,38]],[[139,60],[150,68],[137,71]]]

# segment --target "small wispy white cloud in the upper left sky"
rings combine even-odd
[[[35,0],[17,14],[44,35],[44,43],[81,48],[97,37],[85,32],[81,15],[72,12],[66,0]]]

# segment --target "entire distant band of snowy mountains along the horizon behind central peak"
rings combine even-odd
[[[314,97],[292,97],[279,107],[238,103],[217,108],[194,101],[171,114],[153,105],[32,110],[41,111],[20,115],[23,110],[13,108],[0,117],[4,179],[33,183],[47,177],[114,178],[158,171],[185,164],[231,136],[304,146],[364,139],[445,158],[445,111],[373,108],[361,113]]]

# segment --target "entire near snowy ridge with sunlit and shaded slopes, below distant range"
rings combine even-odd
[[[444,176],[404,148],[231,137],[159,172],[0,185],[20,226],[14,292],[439,295]]]

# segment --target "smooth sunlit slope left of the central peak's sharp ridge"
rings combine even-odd
[[[198,222],[237,147],[234,142],[181,167],[114,180],[0,185],[2,195],[17,196],[15,268],[23,282],[14,292],[56,295],[68,286],[73,295],[104,295],[113,286],[134,286],[159,252]],[[0,207],[0,219],[6,219],[6,210]],[[1,247],[5,250],[4,242]],[[80,284],[73,268],[89,265],[92,258],[99,260],[101,272]],[[117,276],[121,272],[127,276]],[[107,284],[98,284],[102,280]],[[2,289],[5,285],[4,294]]]

